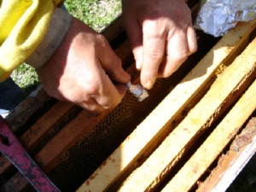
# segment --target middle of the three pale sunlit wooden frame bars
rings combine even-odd
[[[143,165],[126,179],[119,191],[154,189],[159,181],[170,172],[183,155],[184,150],[189,147],[189,143],[192,143],[202,131],[212,125],[214,119],[225,109],[227,102],[236,99],[234,93],[247,87],[246,79],[256,78],[256,55],[253,54],[255,46],[256,39],[230,67],[225,69],[195,108],[166,137]]]

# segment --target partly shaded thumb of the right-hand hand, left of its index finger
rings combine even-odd
[[[135,17],[125,18],[125,30],[131,44],[131,50],[136,61],[137,69],[142,68],[143,62],[143,32]]]

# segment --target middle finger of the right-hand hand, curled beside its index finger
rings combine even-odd
[[[166,41],[166,58],[160,65],[159,77],[169,77],[181,66],[188,55],[188,39],[183,30],[169,32]]]

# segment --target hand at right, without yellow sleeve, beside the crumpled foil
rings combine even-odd
[[[197,49],[191,13],[184,0],[123,0],[125,29],[141,84],[151,89]]]

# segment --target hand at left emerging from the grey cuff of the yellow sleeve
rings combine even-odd
[[[55,55],[37,72],[49,96],[93,113],[118,105],[131,79],[108,41],[75,18]]]

